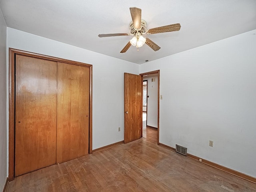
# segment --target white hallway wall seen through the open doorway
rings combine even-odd
[[[151,82],[151,79],[155,78],[156,81]],[[150,76],[149,78],[143,78],[148,80],[148,112],[147,112],[147,125],[152,127],[158,127],[158,76]]]

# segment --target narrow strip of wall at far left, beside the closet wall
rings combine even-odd
[[[7,178],[6,92],[6,23],[0,10],[0,191]]]

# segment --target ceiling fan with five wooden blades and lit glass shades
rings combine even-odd
[[[152,42],[147,37],[143,37],[142,34],[156,34],[156,33],[164,33],[164,32],[172,32],[179,31],[180,24],[171,24],[162,27],[146,29],[147,23],[146,21],[141,19],[141,9],[136,7],[130,7],[130,13],[132,16],[132,22],[130,22],[130,33],[114,33],[114,34],[99,34],[99,37],[112,37],[112,36],[128,36],[134,35],[134,37],[124,46],[120,53],[124,53],[130,48],[131,45],[136,46],[139,51],[139,47],[144,45],[145,43],[150,46],[154,51],[158,51],[160,47]]]

